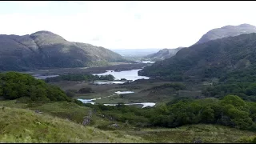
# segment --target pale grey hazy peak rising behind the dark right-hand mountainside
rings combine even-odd
[[[218,38],[234,37],[240,34],[256,33],[256,26],[250,24],[241,24],[238,26],[223,26],[221,28],[213,29],[202,35],[196,44],[208,42]]]

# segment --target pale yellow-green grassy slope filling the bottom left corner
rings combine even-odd
[[[5,107],[0,115],[0,142],[146,142],[32,110]]]

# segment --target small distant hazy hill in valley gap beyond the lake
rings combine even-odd
[[[162,49],[159,50],[157,53],[149,54],[144,58],[149,58],[151,61],[163,60],[174,56],[178,52],[178,50],[181,50],[182,48],[184,47],[178,47],[176,49]]]

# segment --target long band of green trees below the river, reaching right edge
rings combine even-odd
[[[212,123],[242,130],[256,130],[256,103],[245,102],[236,95],[218,100],[183,99],[177,102],[140,109],[135,106],[84,104],[119,122],[140,126],[178,127],[187,124]]]

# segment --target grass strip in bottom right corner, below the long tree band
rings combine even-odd
[[[193,142],[195,139],[201,139],[202,142],[231,143],[246,142],[256,136],[255,132],[246,130],[237,130],[234,128],[218,125],[190,125],[181,126],[173,129],[144,129],[138,132],[129,132],[145,138],[152,142]]]

